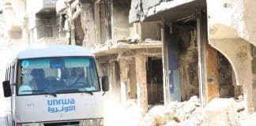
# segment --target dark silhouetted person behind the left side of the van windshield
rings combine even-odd
[[[33,90],[44,91],[47,89],[47,80],[44,78],[45,74],[43,69],[32,69],[30,72],[33,79],[30,82]]]

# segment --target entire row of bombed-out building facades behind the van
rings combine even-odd
[[[247,112],[256,110],[253,0],[6,0],[4,5],[8,18],[21,15],[20,22],[9,22],[9,33],[22,43],[93,50],[100,75],[111,83],[106,99],[117,105],[134,100],[143,114],[150,105],[193,95],[203,106],[213,98],[243,95]]]

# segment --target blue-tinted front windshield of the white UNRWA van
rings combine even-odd
[[[17,95],[100,91],[93,57],[45,57],[19,61]]]

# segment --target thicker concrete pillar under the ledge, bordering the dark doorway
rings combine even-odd
[[[147,72],[146,57],[137,51],[135,57],[136,79],[137,79],[137,103],[141,107],[142,114],[148,111],[148,93],[147,93]]]

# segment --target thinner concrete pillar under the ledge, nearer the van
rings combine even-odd
[[[127,101],[127,83],[128,83],[128,70],[129,65],[125,59],[120,59],[120,83],[121,83],[121,100],[122,105],[124,105]]]

